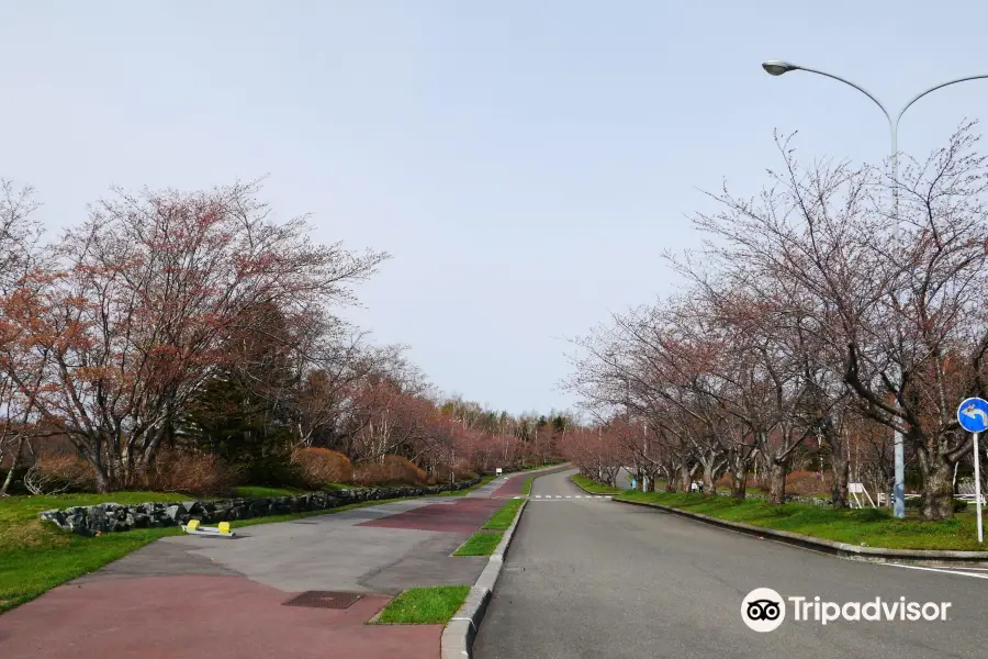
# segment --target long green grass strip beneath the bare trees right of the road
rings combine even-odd
[[[917,517],[896,520],[886,509],[833,510],[804,503],[772,505],[764,501],[734,501],[729,496],[628,492],[619,500],[644,501],[709,515],[816,536],[849,545],[890,549],[985,550],[978,545],[974,514],[961,513],[943,522]]]

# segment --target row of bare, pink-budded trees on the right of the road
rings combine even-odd
[[[570,455],[605,478],[616,465],[673,489],[697,478],[705,493],[727,476],[738,498],[760,469],[775,503],[793,466],[819,459],[842,507],[855,456],[855,478],[889,491],[899,433],[922,516],[952,516],[972,454],[956,409],[986,394],[978,139],[964,124],[892,181],[801,164],[776,136],[782,166],[761,193],[710,193],[717,210],[692,219],[703,247],[666,255],[685,290],[575,339],[566,386],[602,425]]]

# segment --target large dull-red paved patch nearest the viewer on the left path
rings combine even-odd
[[[149,577],[63,585],[0,616],[3,659],[438,659],[442,625],[363,625],[349,608],[282,606],[243,577]]]

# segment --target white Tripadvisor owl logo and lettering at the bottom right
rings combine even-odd
[[[755,632],[773,632],[786,619],[787,608],[797,623],[827,625],[838,621],[910,622],[946,621],[950,602],[910,602],[906,597],[867,602],[827,602],[819,596],[783,597],[771,588],[756,588],[741,601],[741,619]]]

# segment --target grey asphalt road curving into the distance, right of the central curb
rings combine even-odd
[[[535,481],[474,643],[478,659],[988,657],[988,571],[841,560]],[[535,495],[552,495],[537,499]],[[562,496],[555,499],[555,496]],[[570,499],[566,499],[570,496]],[[755,588],[812,602],[950,602],[945,622],[786,619],[749,629]]]

